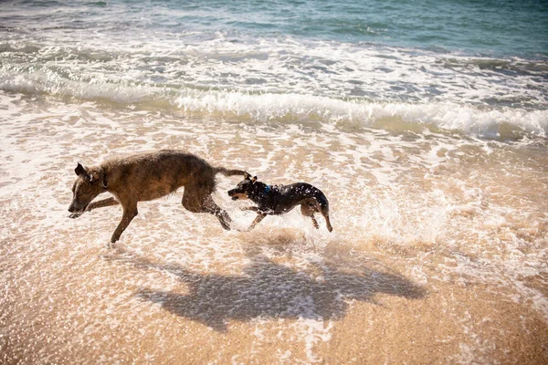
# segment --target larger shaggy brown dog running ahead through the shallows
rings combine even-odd
[[[230,229],[230,217],[212,199],[216,174],[244,175],[240,170],[213,167],[201,158],[184,151],[144,152],[125,158],[114,158],[99,166],[75,169],[78,178],[72,186],[72,203],[68,212],[77,218],[84,212],[103,206],[121,204],[121,222],[111,237],[118,241],[121,233],[137,215],[137,203],[174,193],[184,186],[183,206],[193,213],[214,214],[223,228]],[[100,193],[114,197],[91,203]]]

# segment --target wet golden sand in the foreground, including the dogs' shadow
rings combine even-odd
[[[78,241],[78,230],[68,231],[60,234]],[[224,247],[231,264],[241,266],[237,275],[221,262],[188,268],[158,258],[153,243],[104,248],[97,240],[68,244],[47,235],[39,245],[48,245],[49,255],[37,257],[32,248],[37,243],[3,242],[3,257],[20,259],[3,265],[7,300],[0,359],[196,364],[547,359],[546,319],[505,287],[466,276],[442,281],[432,278],[440,273],[428,264],[427,283],[419,284],[395,268],[397,257],[374,257],[335,240],[318,249],[294,240],[295,232],[262,233],[274,235],[272,242],[244,244],[243,255],[239,247],[215,243],[216,255],[226,255]],[[199,240],[196,245],[212,246]],[[298,263],[291,255],[302,250],[321,260]]]

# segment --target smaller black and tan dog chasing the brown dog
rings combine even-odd
[[[329,222],[329,203],[321,190],[310,183],[291,183],[289,185],[267,185],[257,181],[257,176],[251,177],[246,172],[244,180],[235,189],[228,191],[232,200],[250,199],[257,206],[247,210],[257,212],[257,218],[249,226],[252,229],[269,214],[284,214],[300,205],[300,213],[311,217],[314,227],[319,228],[314,213],[320,213],[325,218],[327,229],[332,232]]]

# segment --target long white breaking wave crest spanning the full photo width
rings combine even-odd
[[[432,127],[486,139],[548,136],[548,110],[490,108],[453,102],[397,102],[336,99],[298,93],[153,86],[79,81],[51,72],[0,74],[0,89],[41,94],[72,102],[106,103],[119,108],[165,110],[194,117],[258,123],[332,123],[338,128],[421,130]]]

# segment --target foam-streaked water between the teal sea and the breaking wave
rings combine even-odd
[[[458,57],[287,36],[249,39],[222,32],[210,38],[198,35],[195,41],[184,38],[172,35],[127,44],[114,39],[108,45],[102,38],[62,46],[0,42],[0,80],[7,88],[37,82],[37,89],[77,97],[100,93],[93,90],[98,88],[121,94],[132,94],[135,88],[168,94],[205,89],[494,109],[545,110],[548,105],[545,60]],[[82,85],[72,85],[75,82]]]

